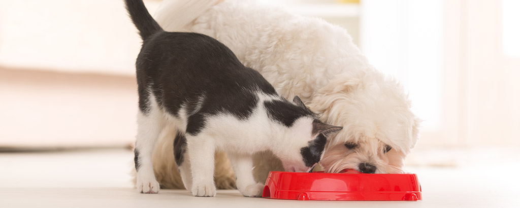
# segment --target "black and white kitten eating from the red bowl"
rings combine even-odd
[[[326,136],[342,127],[317,120],[300,98],[289,102],[214,38],[164,32],[142,0],[126,7],[143,40],[136,61],[139,94],[135,148],[137,190],[157,193],[152,150],[163,128],[177,128],[175,161],[194,196],[215,196],[214,152],[227,153],[237,188],[257,197],[252,155],[270,150],[285,170],[310,171]]]

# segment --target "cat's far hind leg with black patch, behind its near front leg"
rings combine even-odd
[[[173,141],[173,153],[175,157],[175,163],[180,173],[180,178],[183,180],[184,187],[186,190],[191,191],[191,184],[193,177],[191,176],[191,163],[188,155],[188,148],[186,143],[185,133],[177,130],[177,135]]]

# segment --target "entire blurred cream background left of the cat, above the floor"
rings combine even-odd
[[[140,38],[124,2],[0,5],[0,147],[131,144]]]

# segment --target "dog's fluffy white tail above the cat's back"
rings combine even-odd
[[[189,32],[188,25],[224,0],[163,0],[153,15],[168,32]]]

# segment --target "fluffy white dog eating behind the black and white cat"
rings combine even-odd
[[[177,21],[188,16],[193,19]],[[325,171],[402,171],[418,140],[420,121],[400,84],[371,66],[345,29],[246,0],[165,0],[155,19],[167,31],[194,31],[216,38],[245,66],[258,70],[280,95],[300,95],[323,122],[343,126],[327,144],[320,162]],[[174,135],[160,142],[170,143]],[[386,152],[388,147],[392,149]],[[158,147],[154,156],[161,185],[181,188],[175,183],[171,148]],[[281,169],[272,158],[272,154],[257,158],[258,181],[265,181],[268,171]],[[234,186],[230,168],[215,173],[219,188]]]

